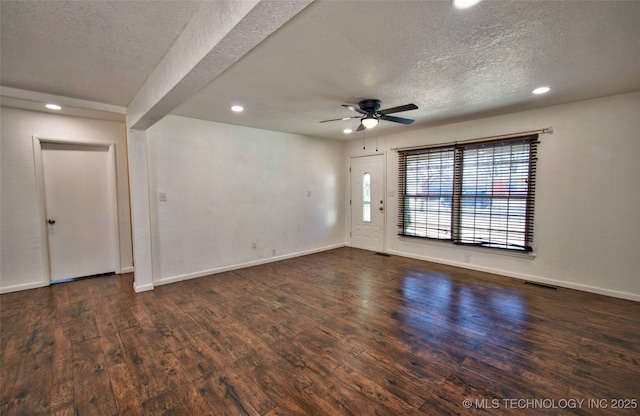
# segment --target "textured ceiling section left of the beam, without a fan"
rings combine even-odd
[[[126,106],[200,4],[2,0],[0,84]]]

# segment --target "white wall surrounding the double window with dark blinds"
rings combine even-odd
[[[387,251],[640,300],[640,92],[379,138],[388,155],[387,190],[397,194],[391,148],[544,127],[554,133],[540,136],[535,258],[398,237],[397,197],[387,200]],[[362,152],[361,140],[346,147],[350,156]]]

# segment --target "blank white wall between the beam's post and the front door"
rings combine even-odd
[[[178,116],[147,139],[154,283],[344,245],[343,142]]]

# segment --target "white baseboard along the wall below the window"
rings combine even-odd
[[[575,283],[575,282],[567,282],[564,280],[550,279],[548,277],[534,276],[534,275],[525,274],[525,273],[514,273],[508,270],[494,269],[492,267],[485,267],[485,266],[478,266],[475,264],[443,260],[443,259],[429,257],[429,256],[420,256],[420,255],[409,254],[409,253],[404,253],[404,252],[395,251],[395,250],[387,250],[387,253],[393,254],[396,256],[401,256],[401,257],[408,257],[416,260],[424,260],[424,261],[430,261],[433,263],[445,264],[447,266],[454,266],[454,267],[460,267],[463,269],[470,269],[470,270],[477,270],[480,272],[498,274],[501,276],[512,277],[518,280],[525,280],[528,282],[544,283],[546,285],[564,287],[566,289],[581,290],[583,292],[596,293],[598,295],[605,295],[605,296],[611,296],[614,298],[627,299],[627,300],[640,302],[640,294],[636,294],[636,293],[621,292],[618,290],[606,289],[606,288],[597,287],[597,286],[589,286],[589,285],[584,285],[584,284]]]

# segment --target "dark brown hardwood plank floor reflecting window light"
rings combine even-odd
[[[640,303],[357,249],[0,302],[3,415],[640,413]]]

